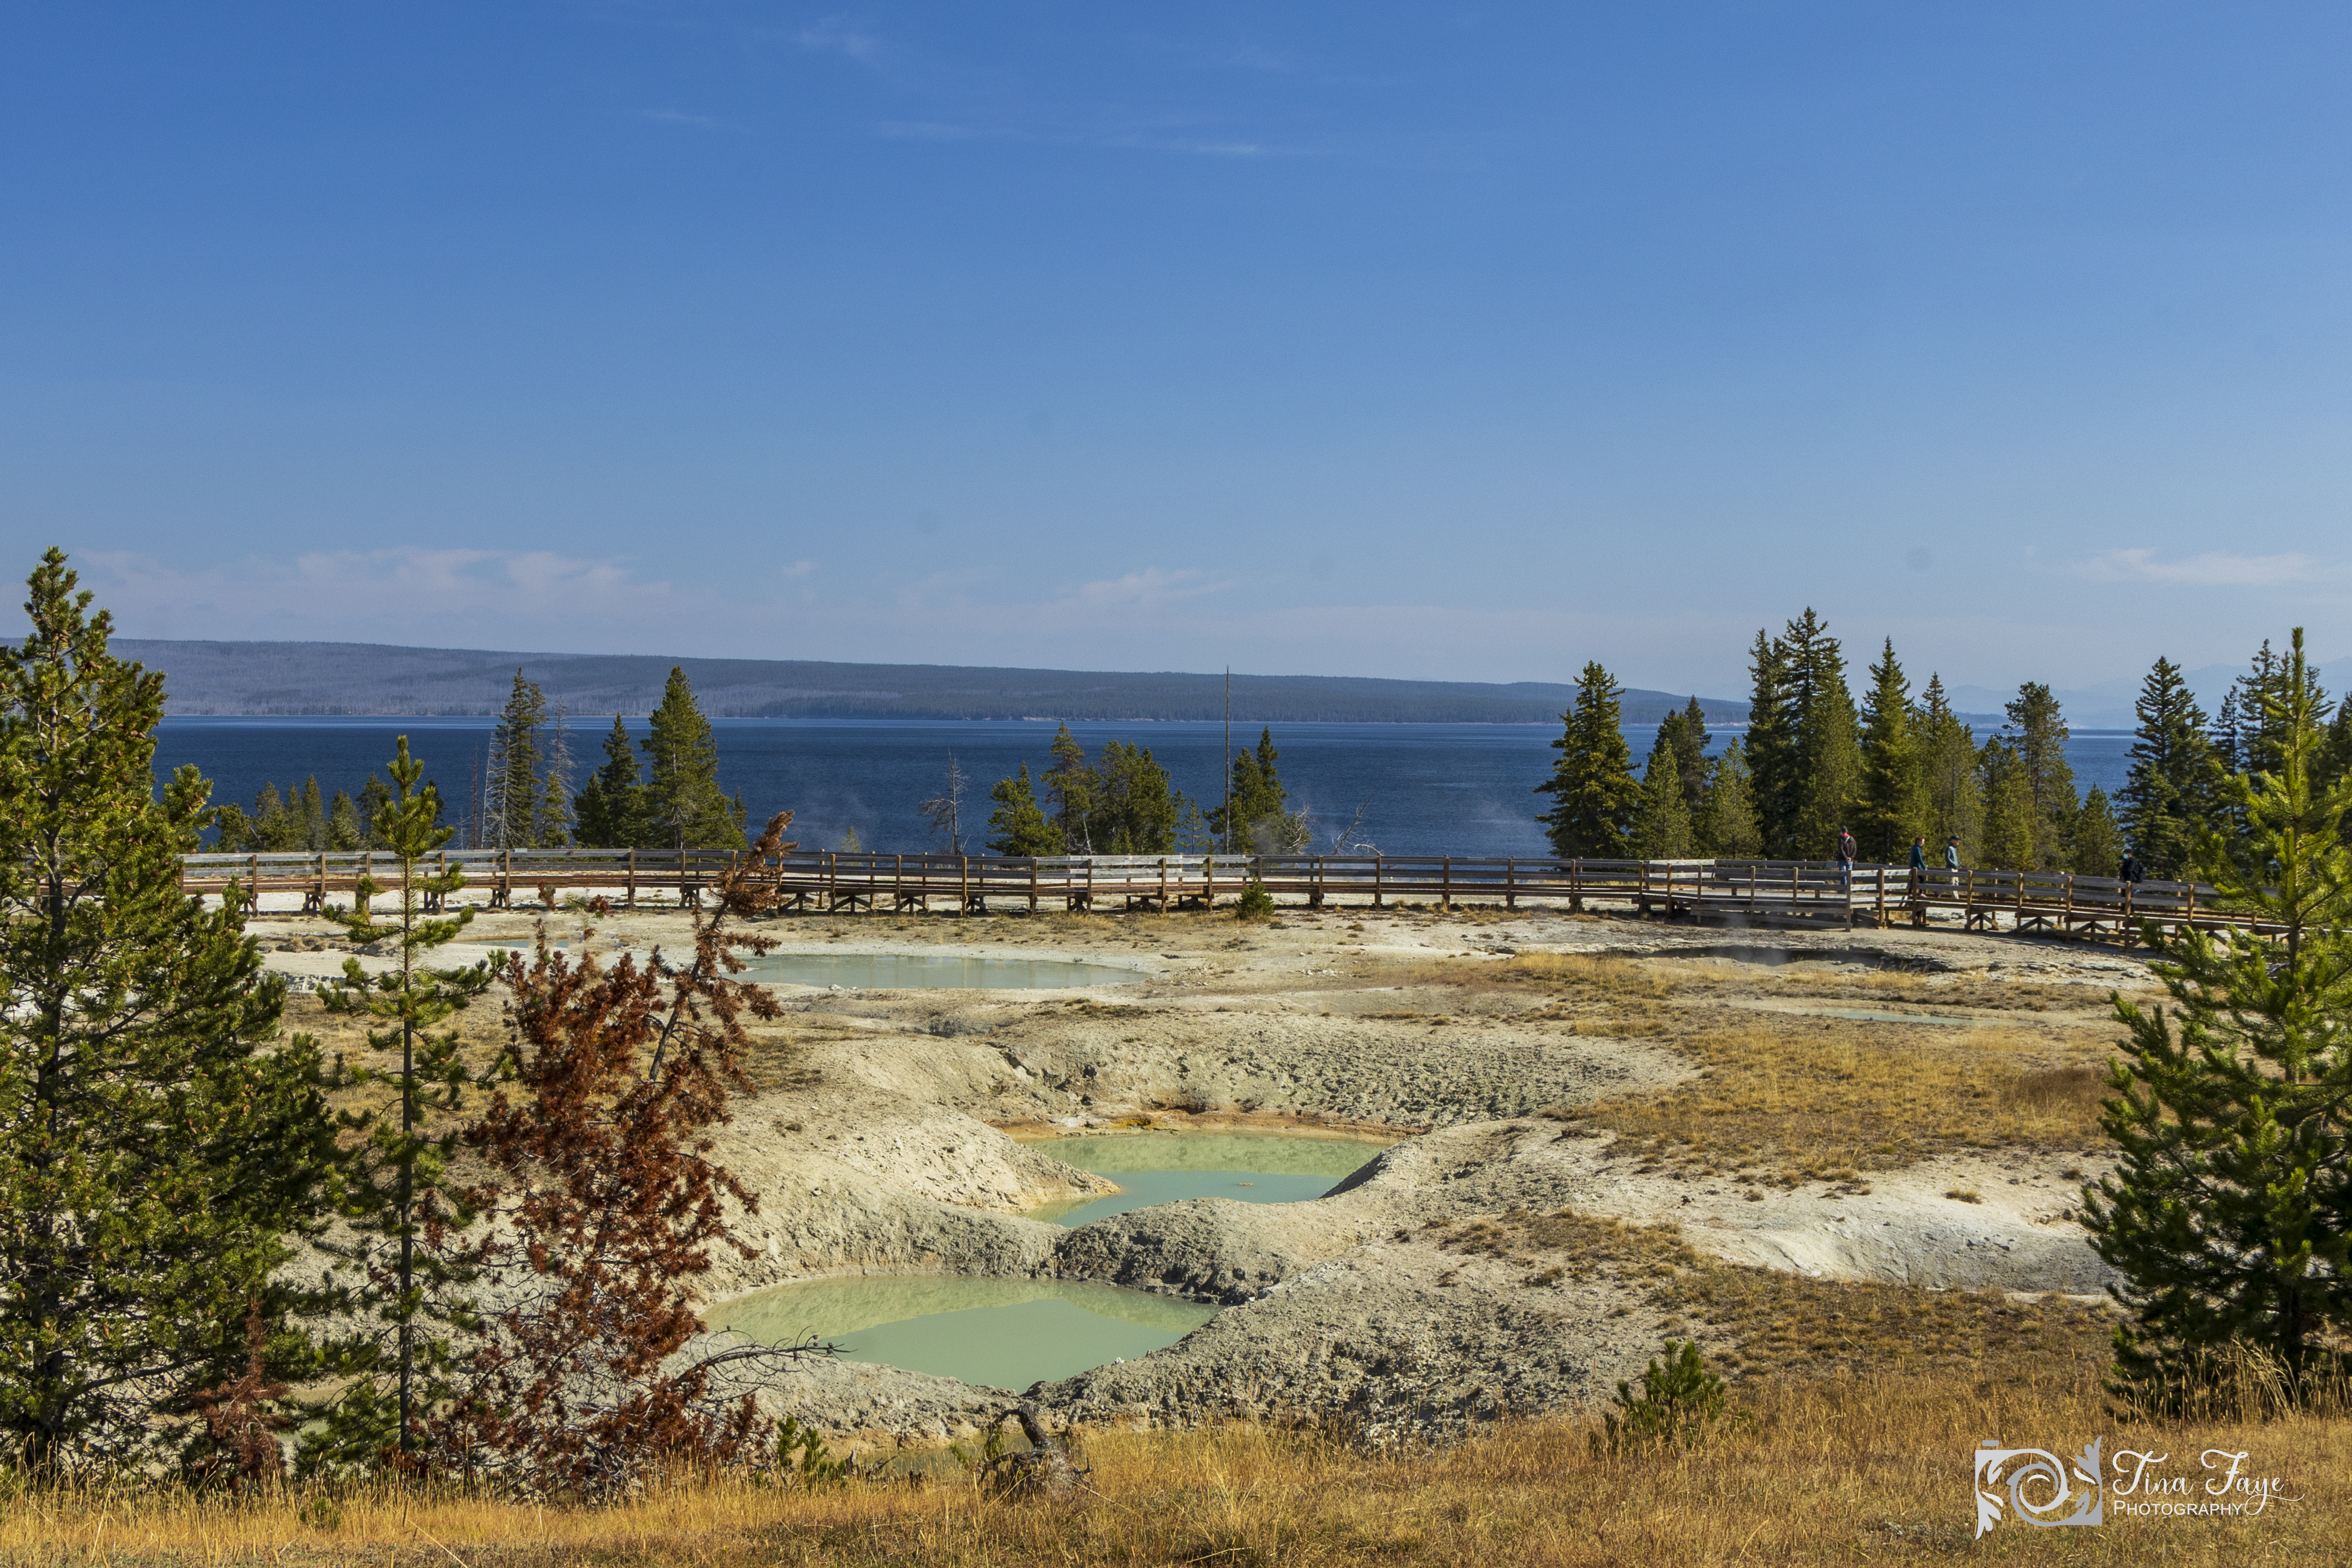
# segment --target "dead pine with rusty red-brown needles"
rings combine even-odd
[[[746,1018],[779,1016],[734,978],[739,950],[774,943],[736,924],[774,905],[762,867],[793,849],[788,823],[776,816],[717,879],[684,969],[659,950],[600,961],[586,940],[567,954],[546,929],[508,959],[501,1086],[463,1133],[489,1178],[468,1194],[485,1215],[470,1241],[480,1305],[461,1392],[433,1422],[442,1465],[609,1495],[654,1465],[755,1460],[769,1422],[746,1373],[828,1349],[689,1352],[713,1248],[753,1251],[727,1206],[753,1213],[757,1199],[710,1159],[710,1131],[753,1088]]]

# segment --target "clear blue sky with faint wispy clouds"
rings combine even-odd
[[[0,543],[165,637],[2345,654],[2347,66],[2319,5],[0,5]]]

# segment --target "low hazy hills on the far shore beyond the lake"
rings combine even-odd
[[[494,715],[515,670],[579,717],[642,715],[670,665],[703,712],[731,719],[1216,719],[1223,675],[858,665],[802,658],[501,654],[367,642],[165,642],[118,637],[115,654],[165,672],[172,715]],[[1235,675],[1237,724],[1555,724],[1576,698],[1552,682],[1411,682],[1348,675]],[[1656,724],[1689,693],[1625,691],[1625,722]],[[1748,703],[1698,698],[1712,724]]]

